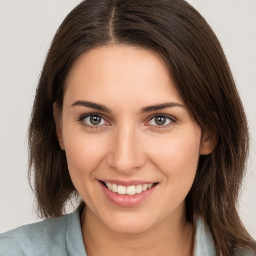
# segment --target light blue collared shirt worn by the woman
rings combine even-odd
[[[80,212],[49,218],[0,234],[0,256],[87,256]],[[196,222],[194,256],[216,256],[211,232],[201,218]]]

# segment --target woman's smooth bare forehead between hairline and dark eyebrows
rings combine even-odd
[[[64,100],[67,95],[72,100],[111,97],[123,103],[130,97],[150,104],[183,103],[164,61],[149,50],[126,45],[98,47],[79,56],[68,75]]]

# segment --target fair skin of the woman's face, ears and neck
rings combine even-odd
[[[71,179],[86,202],[81,227],[88,256],[192,255],[185,197],[200,154],[213,143],[163,61],[127,45],[85,52],[54,116]]]

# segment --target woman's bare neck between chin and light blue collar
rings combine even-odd
[[[166,219],[141,233],[116,233],[85,207],[81,227],[88,256],[190,256],[193,252],[193,225],[184,216]]]

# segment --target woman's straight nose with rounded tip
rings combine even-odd
[[[146,162],[139,132],[130,126],[119,127],[111,138],[107,163],[119,173],[129,175]]]

